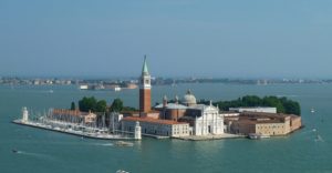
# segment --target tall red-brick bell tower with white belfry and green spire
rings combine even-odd
[[[139,111],[142,115],[151,111],[151,75],[146,64],[146,55],[144,57],[139,82]]]

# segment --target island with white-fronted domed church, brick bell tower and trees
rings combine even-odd
[[[106,101],[84,96],[70,110],[52,109],[46,120],[70,123],[70,129],[97,129],[107,135],[133,134],[157,139],[216,140],[287,135],[302,126],[300,104],[287,98],[246,95],[234,101],[197,101],[188,90],[184,96],[152,105],[152,75],[144,59],[139,78],[139,109],[123,105],[120,98]],[[45,119],[43,119],[44,121]],[[49,122],[49,121],[46,121]],[[54,125],[54,123],[52,124]]]

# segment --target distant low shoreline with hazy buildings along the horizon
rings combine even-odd
[[[231,78],[153,78],[153,85],[172,85],[187,83],[222,83],[222,84],[325,84],[332,83],[332,79],[231,79]],[[79,78],[17,78],[0,77],[0,85],[118,85],[127,88],[137,85],[137,78],[117,79],[79,79]]]

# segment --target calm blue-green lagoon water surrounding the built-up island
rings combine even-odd
[[[180,84],[154,86],[153,103],[191,89],[197,99],[231,100],[246,94],[279,95],[299,101],[305,128],[282,138],[218,141],[155,140],[144,138],[134,147],[112,141],[81,139],[12,124],[21,108],[35,111],[70,108],[72,101],[94,95],[138,105],[138,90],[80,91],[75,86],[0,86],[1,173],[330,173],[332,172],[332,84]],[[49,91],[53,90],[53,93]],[[310,113],[314,108],[315,113]],[[322,140],[315,140],[318,129]],[[12,149],[19,153],[12,153]]]

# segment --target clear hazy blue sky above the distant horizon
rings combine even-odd
[[[0,77],[331,78],[331,0],[0,0]]]

